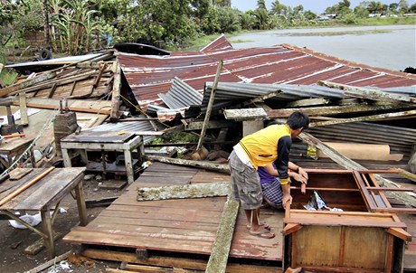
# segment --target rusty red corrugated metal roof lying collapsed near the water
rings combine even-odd
[[[203,52],[173,52],[163,57],[119,54],[118,61],[144,109],[149,103],[162,103],[157,95],[170,89],[175,76],[202,93],[205,82],[214,80],[220,60],[220,82],[316,85],[318,80],[330,80],[357,87],[416,85],[415,75],[343,61],[288,44],[232,49],[223,46],[223,40],[225,37],[217,39]]]

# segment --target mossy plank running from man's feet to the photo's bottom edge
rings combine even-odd
[[[205,273],[224,273],[232,247],[232,234],[239,213],[240,202],[230,195],[224,204],[220,225],[213,242],[213,250],[206,265]]]

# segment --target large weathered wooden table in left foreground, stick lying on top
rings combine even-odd
[[[0,203],[5,200],[6,196],[13,194],[22,185],[33,181],[40,174],[45,173],[48,169],[14,169],[10,176],[0,184]],[[52,223],[59,209],[59,203],[72,190],[75,191],[78,212],[80,214],[80,225],[87,225],[87,210],[82,191],[82,178],[85,168],[55,168],[52,172],[46,174],[35,184],[28,187],[22,193],[15,196],[8,202],[0,206],[0,212],[9,218],[19,221],[28,229],[34,231],[43,237],[44,245],[48,250],[49,257],[55,256],[55,248],[53,243]],[[29,172],[22,178],[12,180],[17,174]],[[50,211],[53,210],[52,217]],[[13,212],[41,212],[42,226],[37,229],[21,221]]]

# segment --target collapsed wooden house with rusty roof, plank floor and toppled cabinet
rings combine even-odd
[[[225,270],[228,257],[227,271],[236,272],[242,270],[241,267],[265,272],[288,266],[315,270],[323,269],[323,266],[337,270],[364,268],[371,272],[400,272],[403,264],[407,269],[416,268],[412,262],[414,240],[408,242],[415,237],[414,222],[406,222],[406,226],[395,216],[395,213],[414,213],[411,207],[416,204],[414,193],[400,191],[402,183],[409,179],[414,181],[414,174],[407,171],[411,169],[408,162],[414,158],[416,143],[416,76],[342,61],[288,44],[234,50],[224,36],[199,52],[170,55],[131,52],[134,51],[116,52],[116,60],[112,53],[104,53],[90,56],[90,60],[66,61],[63,67],[0,89],[2,96],[19,94],[26,99],[25,103],[13,102],[21,108],[25,105],[42,111],[57,111],[60,100],[66,99],[61,112],[56,115],[65,116],[65,108],[76,112],[78,125],[85,123],[80,118],[84,114],[80,113],[93,113],[93,118],[83,119],[90,124],[82,125],[76,136],[63,137],[63,150],[75,147],[88,150],[80,146],[88,146],[92,137],[99,138],[96,142],[102,147],[116,141],[126,144],[136,137],[142,140],[140,145],[135,142],[137,145],[128,146],[129,151],[137,147],[141,150],[137,152],[137,161],[125,153],[122,160],[126,161],[126,167],[119,171],[119,165],[114,166],[114,172],[130,172],[128,177],[133,177],[128,180],[130,185],[126,193],[95,221],[86,227],[74,228],[64,240],[86,246],[83,254],[90,258],[211,272]],[[44,63],[47,68],[54,65],[51,61]],[[43,64],[36,63],[35,66],[42,67]],[[283,219],[281,212],[277,213],[278,217],[276,212],[266,212],[267,221],[284,236],[278,236],[276,240],[256,240],[245,231],[238,205],[226,198],[228,192],[224,189],[230,181],[229,176],[213,172],[226,172],[226,166],[172,159],[167,162],[187,166],[154,164],[138,179],[137,175],[131,174],[134,173],[133,166],[146,155],[144,145],[157,135],[150,131],[197,132],[204,146],[213,149],[215,143],[229,141],[230,148],[241,136],[264,127],[266,121],[284,122],[295,110],[307,112],[312,124],[309,132],[300,136],[302,142],[293,145],[291,160],[315,175],[311,181],[316,184],[309,187],[323,191],[326,202],[330,206],[343,207],[347,212],[345,215],[305,214],[299,209],[307,200],[298,194],[294,185],[293,192],[298,201],[291,214]],[[140,116],[126,118],[125,113],[128,113],[126,116]],[[31,117],[29,127],[34,123]],[[112,122],[102,124],[105,120]],[[159,121],[168,121],[171,126],[166,128]],[[98,124],[102,125],[95,126]],[[35,133],[38,131],[33,130],[33,138],[37,138]],[[121,131],[123,135],[116,136]],[[113,138],[108,140],[111,132]],[[204,137],[208,132],[211,137]],[[51,130],[49,134],[52,135]],[[31,137],[29,133],[26,135]],[[52,137],[43,139],[45,142],[38,140],[37,145],[42,144],[42,150],[49,151],[53,146]],[[358,152],[353,149],[356,146],[359,146]],[[55,150],[57,154],[58,150]],[[68,166],[72,155],[64,154]],[[158,156],[147,158],[166,160]],[[83,159],[88,164],[88,158]],[[132,165],[130,171],[128,161]],[[43,161],[43,165],[51,164],[51,160]],[[210,171],[198,171],[189,165]],[[400,171],[387,171],[392,167]],[[102,167],[96,165],[93,169],[111,171],[104,161]],[[319,172],[320,169],[326,171]],[[336,171],[331,173],[328,169]],[[384,175],[376,174],[377,170]],[[398,173],[407,174],[407,178]],[[324,177],[332,185],[320,182],[325,180]],[[211,192],[207,193],[203,187],[213,182],[222,184],[216,184],[216,188],[210,188]],[[172,184],[196,186],[192,190],[185,188],[182,197],[169,196],[176,190],[160,188],[147,201],[137,201],[137,191],[142,193],[146,192],[144,188]],[[379,184],[387,188],[385,193],[380,189],[374,192],[373,188]],[[160,195],[164,191],[167,191],[167,197],[162,198]],[[202,192],[198,196],[191,194],[198,191]],[[194,197],[199,199],[189,199]],[[182,199],[165,200],[171,198]],[[395,207],[392,207],[392,200]],[[321,220],[315,220],[319,217]],[[339,221],[341,218],[343,220]],[[368,218],[372,221],[368,222]],[[233,221],[223,222],[225,219]],[[286,226],[282,230],[283,222]],[[337,226],[341,226],[339,231]],[[224,227],[229,228],[224,230]],[[364,232],[359,238],[369,249],[363,247],[363,252],[354,254],[355,244],[351,240],[358,236],[357,232]],[[307,241],[310,233],[317,233],[317,238]],[[324,252],[318,258],[313,255],[299,258],[297,253],[302,249],[312,246],[307,251],[315,253],[317,249],[314,248],[323,247],[318,244],[322,237],[334,242],[324,246],[337,254],[330,256]],[[365,237],[370,240],[364,240]],[[297,243],[300,240],[306,240],[309,245]],[[102,246],[109,249],[103,250]],[[370,249],[383,250],[365,256],[364,252]],[[193,259],[187,255],[193,255]],[[361,264],[352,262],[363,255],[366,259]]]

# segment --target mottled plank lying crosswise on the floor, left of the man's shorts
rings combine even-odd
[[[226,196],[230,187],[230,183],[208,183],[139,188],[137,201]]]

